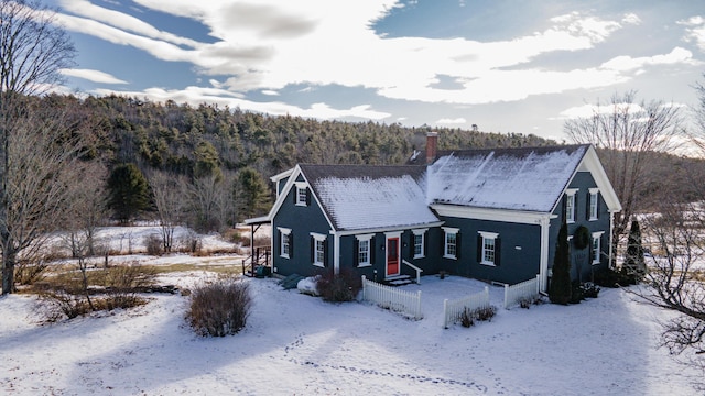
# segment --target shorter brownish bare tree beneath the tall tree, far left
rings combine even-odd
[[[3,293],[13,288],[18,255],[28,248],[39,249],[77,202],[76,177],[86,165],[79,160],[85,145],[82,133],[66,131],[66,111],[51,111],[50,116],[45,109],[32,108],[14,122],[3,190],[8,208],[0,219]]]

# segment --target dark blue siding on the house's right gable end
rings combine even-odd
[[[588,206],[589,206],[589,188],[596,188],[597,184],[589,172],[578,172],[568,188],[576,188],[575,195],[575,222],[568,223],[568,235],[574,235],[575,231],[585,226],[593,232],[604,231],[600,239],[600,263],[593,265],[592,245],[585,249],[577,249],[574,243],[571,243],[571,278],[578,279],[581,282],[587,282],[593,279],[594,271],[598,268],[607,268],[609,263],[609,218],[610,213],[607,209],[607,204],[603,198],[603,195],[598,195],[598,209],[597,220],[589,220]],[[551,220],[550,227],[550,242],[549,242],[549,268],[553,266],[553,257],[555,256],[555,245],[558,239],[558,231],[563,223],[563,205],[558,205],[554,211],[555,219]],[[573,242],[573,241],[571,241]]]

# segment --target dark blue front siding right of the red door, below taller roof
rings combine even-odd
[[[539,274],[541,260],[541,227],[503,221],[444,218],[445,224],[458,228],[459,256],[457,260],[443,257],[444,235],[440,231],[436,254],[443,268],[451,274],[477,279],[517,284],[534,278]],[[478,231],[499,234],[499,263],[496,266],[478,262]]]

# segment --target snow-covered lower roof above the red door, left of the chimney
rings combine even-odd
[[[301,165],[336,230],[422,227],[438,222],[420,166]]]

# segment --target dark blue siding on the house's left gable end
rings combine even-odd
[[[273,244],[272,263],[275,272],[281,275],[300,274],[304,276],[313,276],[322,273],[324,270],[313,265],[311,256],[311,232],[326,235],[326,264],[333,267],[333,235],[330,235],[330,227],[314,199],[308,206],[294,205],[295,188],[292,188],[286,200],[281,206],[274,219],[272,220]],[[293,254],[290,258],[281,256],[281,235],[278,227],[291,229]]]

